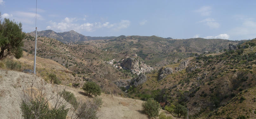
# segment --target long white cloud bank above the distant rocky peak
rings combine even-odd
[[[46,29],[51,29],[57,32],[63,32],[63,31],[69,31],[69,30],[75,30],[75,31],[88,31],[88,32],[93,32],[97,29],[100,28],[113,28],[113,30],[120,30],[123,28],[127,28],[130,25],[129,20],[121,20],[119,23],[114,23],[111,24],[109,22],[101,23],[101,22],[95,22],[95,23],[83,23],[83,24],[78,24],[75,23],[77,18],[68,18],[66,17],[64,20],[62,20],[59,23],[49,21]]]

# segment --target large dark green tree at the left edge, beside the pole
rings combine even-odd
[[[1,14],[0,14],[1,15]],[[1,18],[0,18],[1,20]],[[22,32],[22,23],[14,22],[4,18],[0,21],[0,59],[7,55],[14,55],[19,59],[22,57],[22,39],[25,38],[25,33]]]

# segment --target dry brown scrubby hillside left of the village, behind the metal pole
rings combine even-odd
[[[61,81],[64,85],[79,84],[82,86],[84,81],[94,81],[99,84],[105,93],[122,93],[114,82],[121,79],[130,79],[131,74],[119,71],[106,61],[118,58],[117,54],[106,52],[89,45],[64,44],[60,41],[47,38],[37,38],[37,56],[44,59],[51,59],[55,64],[68,69],[70,75],[75,78],[63,76]],[[24,50],[31,55],[34,54],[34,38],[27,36],[24,39]],[[26,53],[25,53],[26,54]],[[26,58],[27,54],[23,58]],[[40,58],[39,58],[40,59]],[[20,60],[20,59],[19,59]],[[55,67],[51,67],[55,68]],[[33,68],[30,68],[33,69]]]

